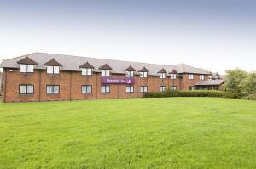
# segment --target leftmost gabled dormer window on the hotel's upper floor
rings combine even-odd
[[[17,62],[17,64],[20,65],[21,73],[33,73],[35,65],[38,65],[35,61],[28,57],[21,59]]]

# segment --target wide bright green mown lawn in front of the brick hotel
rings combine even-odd
[[[0,104],[0,168],[256,168],[256,102]]]

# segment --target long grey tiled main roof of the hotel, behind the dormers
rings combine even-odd
[[[150,75],[158,75],[157,71],[164,68],[166,71],[177,70],[177,73],[183,73],[183,68],[186,67],[183,64],[179,65],[156,65],[156,64],[147,64],[147,63],[140,63],[140,62],[131,62],[131,61],[120,61],[120,60],[113,60],[113,59],[97,59],[97,58],[89,58],[89,57],[80,57],[80,56],[71,56],[71,55],[64,55],[64,54],[48,54],[48,53],[32,53],[26,54],[25,56],[16,57],[13,59],[6,59],[0,64],[0,67],[6,68],[19,68],[17,61],[20,59],[24,59],[29,57],[30,59],[34,60],[38,63],[35,66],[35,69],[46,69],[44,67],[44,63],[49,61],[50,59],[56,59],[62,66],[61,70],[72,70],[72,71],[81,71],[79,66],[83,65],[85,62],[89,62],[91,65],[95,67],[95,71],[99,71],[99,68],[108,63],[108,65],[113,66],[113,73],[124,73],[124,69],[129,67],[130,65],[135,70],[140,70],[143,66],[147,67]],[[197,73],[197,74],[208,74],[209,71],[195,68],[189,66],[190,68],[186,71],[191,71],[188,73]]]

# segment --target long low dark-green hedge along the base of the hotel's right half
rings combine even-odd
[[[165,92],[145,93],[145,98],[164,98],[164,97],[217,97],[217,98],[242,98],[245,95],[237,92],[226,92],[216,90],[193,90],[176,91],[166,90]]]

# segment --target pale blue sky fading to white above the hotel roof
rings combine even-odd
[[[0,0],[0,59],[33,52],[256,70],[255,0]]]

